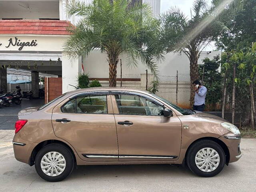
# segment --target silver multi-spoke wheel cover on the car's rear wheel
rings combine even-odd
[[[48,176],[58,176],[64,172],[66,160],[59,152],[51,151],[41,159],[41,169]]]

